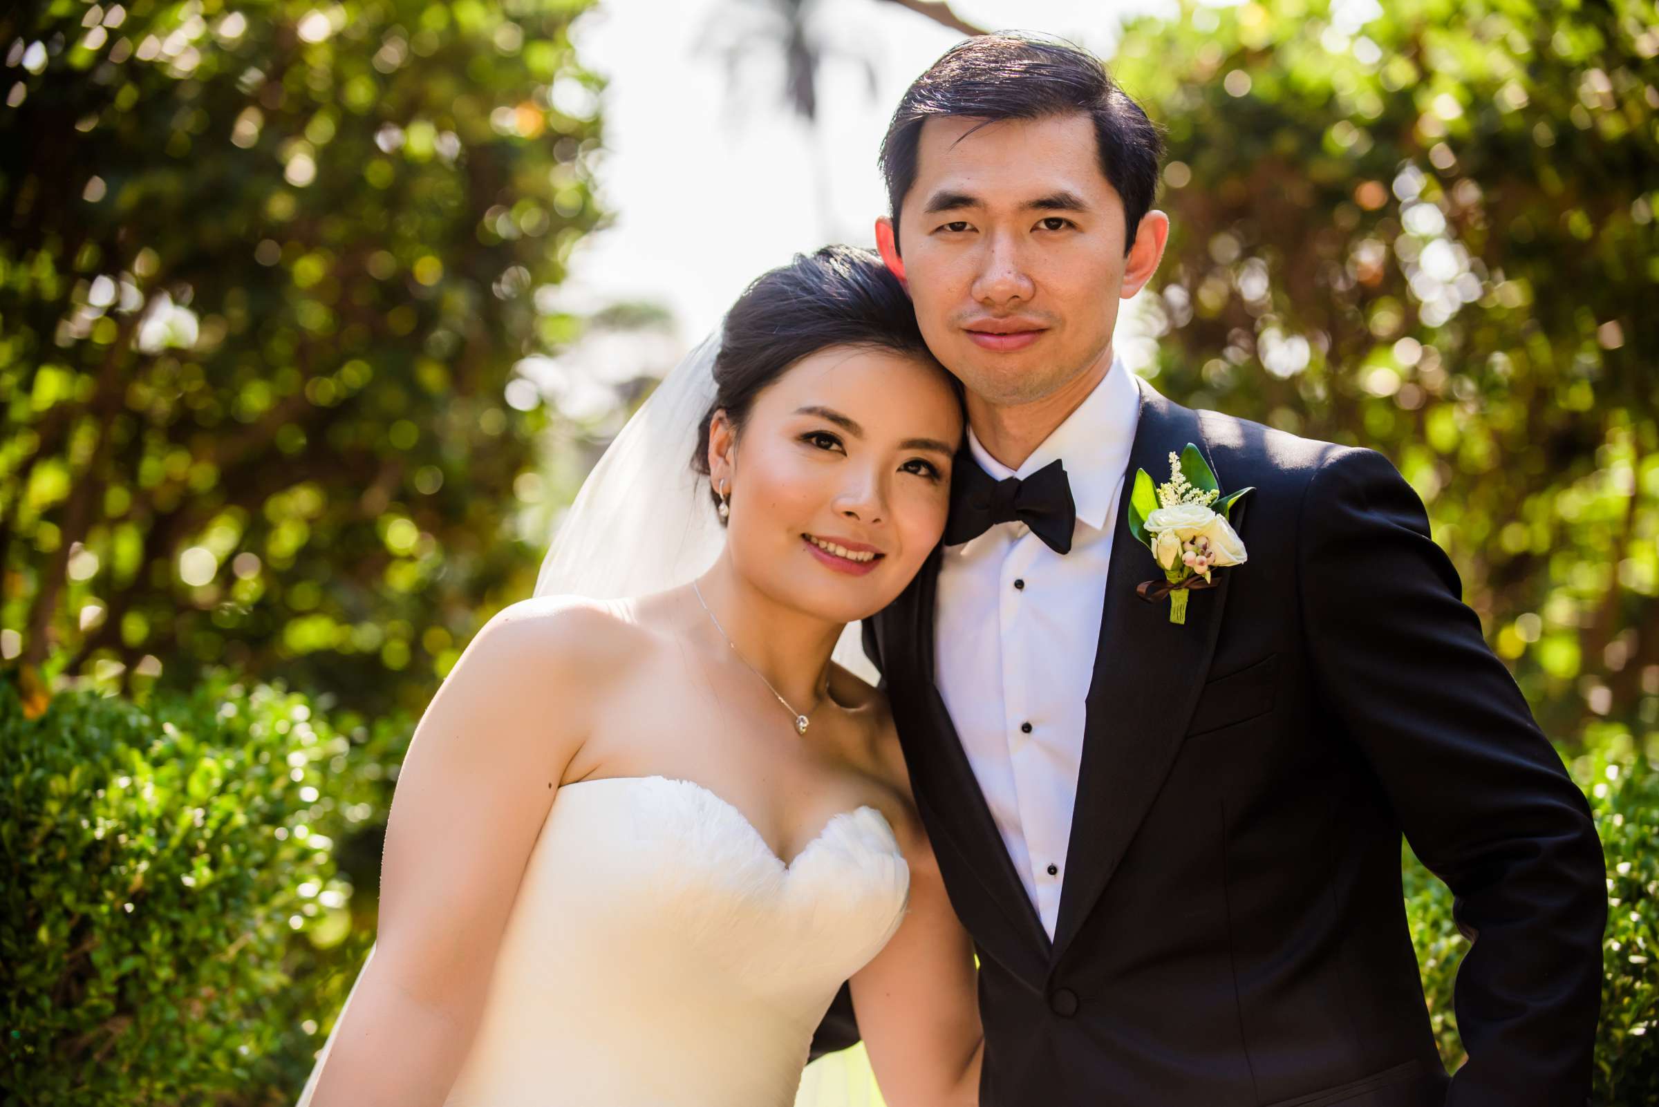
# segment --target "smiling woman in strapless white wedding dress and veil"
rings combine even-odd
[[[750,285],[426,708],[302,1105],[788,1107],[846,979],[889,1107],[977,1102],[972,946],[831,661],[937,545],[961,437],[874,254]]]

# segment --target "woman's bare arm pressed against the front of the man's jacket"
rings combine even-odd
[[[902,762],[894,776],[907,792]],[[911,900],[888,945],[853,976],[858,1029],[888,1107],[975,1107],[984,1031],[974,943],[951,910],[921,820],[894,829]]]

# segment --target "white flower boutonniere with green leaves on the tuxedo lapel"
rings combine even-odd
[[[1186,623],[1186,598],[1198,588],[1214,588],[1209,573],[1244,563],[1239,542],[1228,515],[1233,505],[1254,489],[1221,494],[1216,474],[1191,442],[1176,456],[1170,452],[1170,481],[1153,489],[1145,469],[1135,471],[1130,491],[1130,534],[1151,550],[1163,580],[1148,580],[1135,588],[1140,598],[1158,603],[1170,598],[1170,621]]]

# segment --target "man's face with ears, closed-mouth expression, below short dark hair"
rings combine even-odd
[[[1118,303],[1151,277],[1166,225],[1150,212],[1125,255],[1123,201],[1087,114],[937,118],[888,263],[934,356],[980,401],[1014,406],[1105,373]]]

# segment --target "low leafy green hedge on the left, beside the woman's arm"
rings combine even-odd
[[[292,1102],[372,938],[340,844],[405,742],[224,674],[36,719],[0,679],[7,1102]]]

